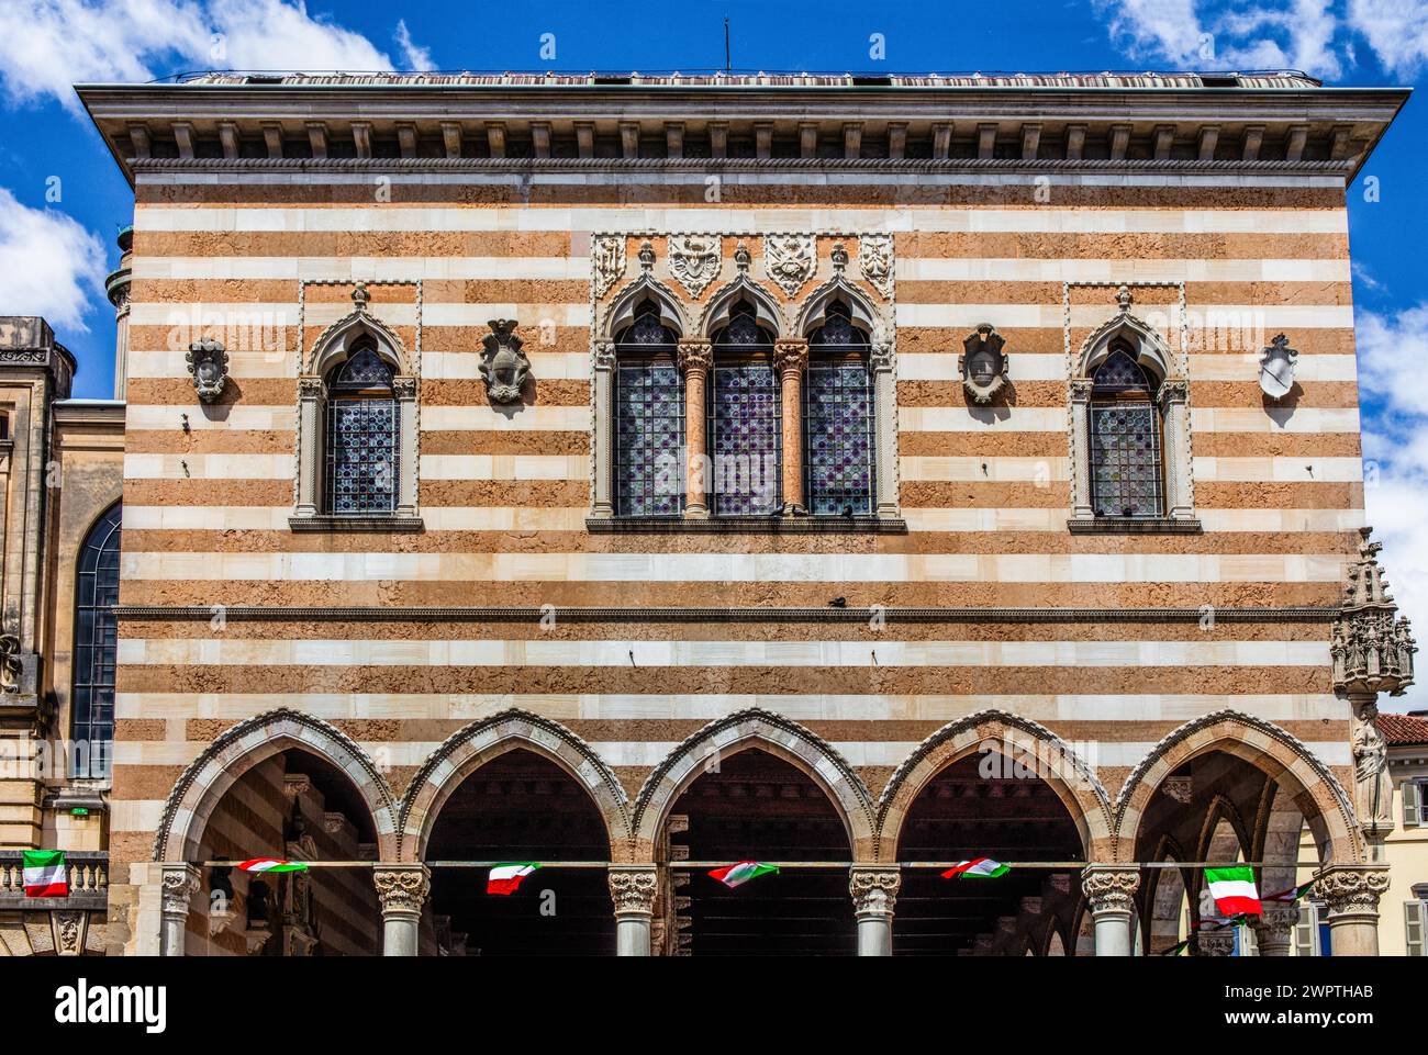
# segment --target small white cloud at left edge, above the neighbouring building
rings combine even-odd
[[[44,316],[50,325],[89,330],[84,313],[104,303],[104,244],[64,213],[30,208],[0,187],[4,310]]]

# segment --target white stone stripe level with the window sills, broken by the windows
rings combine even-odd
[[[430,531],[584,531],[590,511],[578,507],[427,505]],[[290,505],[124,505],[124,527],[141,531],[287,531]],[[1065,510],[904,508],[910,531],[1067,530]],[[1357,531],[1362,510],[1195,508],[1205,531]]]

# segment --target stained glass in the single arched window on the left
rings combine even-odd
[[[371,345],[333,373],[327,401],[327,511],[391,513],[397,500],[397,401],[391,367]]]

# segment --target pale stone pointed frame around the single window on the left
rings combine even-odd
[[[354,297],[357,310],[330,325],[317,343],[297,380],[297,480],[296,503],[288,524],[303,530],[420,531],[417,510],[417,377],[413,357],[401,338],[367,310],[366,298]],[[397,453],[394,508],[390,513],[334,514],[327,505],[328,388],[343,364],[371,348],[391,371],[396,403]]]

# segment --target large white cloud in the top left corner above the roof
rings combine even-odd
[[[0,0],[0,77],[13,101],[71,84],[146,81],[180,70],[391,70],[360,33],[311,16],[303,0]],[[427,49],[397,26],[404,64],[430,69]],[[423,66],[424,63],[424,66]]]

